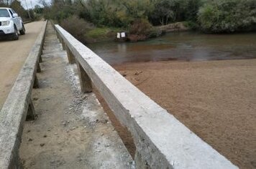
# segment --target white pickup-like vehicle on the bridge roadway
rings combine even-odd
[[[22,18],[10,8],[0,8],[0,37],[11,35],[13,40],[26,33]]]

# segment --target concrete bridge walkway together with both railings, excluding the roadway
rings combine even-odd
[[[96,90],[131,133],[136,146],[134,160],[93,94]],[[0,168],[22,165],[237,168],[50,22],[43,23],[0,112]]]

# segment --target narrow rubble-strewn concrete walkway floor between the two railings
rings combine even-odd
[[[93,93],[81,93],[76,64],[69,65],[49,24],[40,88],[33,90],[37,120],[25,122],[24,168],[132,168],[132,158]]]

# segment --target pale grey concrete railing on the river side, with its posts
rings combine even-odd
[[[78,65],[81,90],[91,92],[92,82],[132,133],[136,168],[237,168],[62,27],[55,30]]]

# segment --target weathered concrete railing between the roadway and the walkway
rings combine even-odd
[[[36,72],[40,72],[42,44],[47,21],[32,47],[24,66],[0,112],[0,168],[19,167],[19,145],[24,121],[35,118],[31,99],[33,87],[38,87]]]

